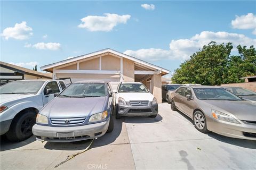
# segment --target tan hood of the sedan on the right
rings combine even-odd
[[[219,112],[231,113],[239,120],[256,121],[256,104],[250,101],[205,100],[205,103]]]

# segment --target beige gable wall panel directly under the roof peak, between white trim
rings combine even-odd
[[[120,70],[120,58],[111,55],[102,56],[101,70]]]

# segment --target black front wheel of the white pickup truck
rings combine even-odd
[[[15,117],[10,126],[10,130],[6,133],[8,140],[13,142],[23,141],[31,135],[32,127],[36,123],[36,114],[33,111],[25,111],[18,117]]]

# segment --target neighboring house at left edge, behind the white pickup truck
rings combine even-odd
[[[52,79],[52,73],[41,73],[17,65],[0,62],[1,86],[14,80]]]

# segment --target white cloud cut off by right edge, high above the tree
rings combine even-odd
[[[236,19],[231,21],[231,25],[236,29],[254,29],[252,33],[256,35],[256,15],[253,13],[236,15]]]

